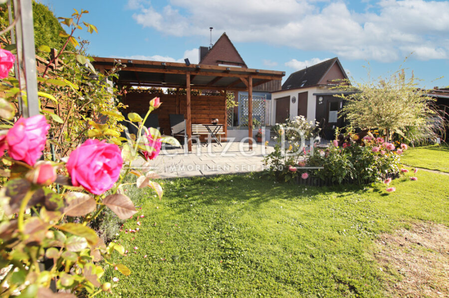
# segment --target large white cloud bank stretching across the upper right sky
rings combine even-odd
[[[128,6],[137,7],[137,23],[173,36],[207,36],[212,26],[235,42],[327,51],[344,59],[390,62],[411,52],[422,60],[449,57],[449,1],[367,2],[363,13],[342,1],[317,0],[170,0],[158,10],[129,0]]]

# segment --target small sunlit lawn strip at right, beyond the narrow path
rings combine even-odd
[[[404,151],[401,162],[413,167],[449,173],[449,147],[446,145],[409,148]]]

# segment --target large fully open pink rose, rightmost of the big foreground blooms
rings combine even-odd
[[[70,153],[67,171],[74,186],[101,195],[117,182],[123,159],[115,144],[88,139]]]

